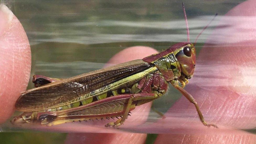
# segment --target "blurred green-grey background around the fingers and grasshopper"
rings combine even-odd
[[[200,36],[197,53],[222,15],[239,0],[184,0],[190,40],[218,13]],[[100,69],[117,52],[130,46],[150,46],[158,51],[186,41],[186,25],[180,1],[1,1],[22,23],[31,45],[34,74],[68,78]],[[29,83],[28,89],[33,88]],[[153,102],[150,118],[159,117],[181,94],[170,87],[168,95]],[[18,114],[18,113],[16,113]],[[1,131],[23,131],[1,125]],[[1,133],[1,143],[63,143],[65,133]],[[147,143],[156,137],[148,135]]]

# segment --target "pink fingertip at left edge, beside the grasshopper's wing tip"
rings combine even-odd
[[[0,123],[10,117],[26,90],[31,68],[28,37],[15,15],[0,5]]]

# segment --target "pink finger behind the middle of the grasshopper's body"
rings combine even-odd
[[[142,59],[151,54],[157,53],[156,50],[151,47],[145,46],[134,46],[122,50],[118,54],[114,55],[106,64],[107,66],[116,65],[119,63]],[[124,125],[120,127],[132,127],[142,124],[146,121],[148,113],[150,111],[151,103],[147,103],[141,106],[137,106],[135,110],[132,111],[131,116],[129,116]],[[106,121],[107,122],[107,121]],[[99,131],[104,132],[104,131]],[[146,134],[135,134],[135,133],[124,133],[124,134],[76,134],[70,133],[67,136],[66,143],[144,143],[146,139]]]

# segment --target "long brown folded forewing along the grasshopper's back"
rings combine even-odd
[[[134,60],[25,91],[15,107],[20,111],[38,111],[63,106],[81,94],[146,70],[153,64]]]

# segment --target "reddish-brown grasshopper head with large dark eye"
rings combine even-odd
[[[196,51],[194,44],[190,42],[180,42],[169,47],[169,49],[173,51],[180,64],[181,76],[190,79],[195,69]]]

